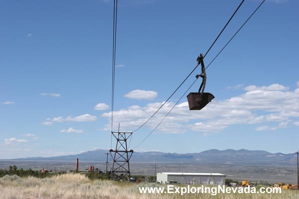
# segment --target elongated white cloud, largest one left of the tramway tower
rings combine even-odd
[[[54,122],[91,122],[95,121],[97,116],[92,116],[90,114],[84,114],[76,117],[72,117],[71,115],[63,118],[62,116],[54,117],[53,119],[47,118],[46,121],[42,122],[41,125],[49,126],[52,125]]]

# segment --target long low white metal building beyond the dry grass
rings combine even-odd
[[[178,183],[192,185],[225,185],[224,174],[211,173],[157,173],[158,183]]]

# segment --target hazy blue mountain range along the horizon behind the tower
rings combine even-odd
[[[57,160],[73,161],[79,158],[80,161],[106,161],[107,150],[97,149],[77,155],[55,156],[55,157],[28,157],[14,160]],[[217,150],[211,149],[200,153],[163,153],[163,152],[134,152],[132,162],[190,162],[201,164],[253,164],[253,165],[296,165],[296,153],[269,153],[259,150]]]

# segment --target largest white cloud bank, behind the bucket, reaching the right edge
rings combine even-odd
[[[212,100],[200,111],[190,111],[188,102],[179,103],[157,128],[166,133],[186,132],[189,130],[200,132],[219,132],[234,124],[263,124],[266,122],[288,122],[291,117],[299,117],[299,88],[287,91],[289,88],[273,84],[270,86],[247,87],[247,91],[239,96],[227,100]],[[148,103],[145,106],[133,105],[114,111],[114,120],[120,122],[128,131],[135,130],[151,116],[162,102]],[[145,125],[154,128],[157,123],[172,108],[174,102],[167,102]],[[105,112],[110,128],[111,112]],[[286,127],[280,123],[271,130]],[[263,127],[266,128],[266,127]],[[258,127],[258,130],[263,129]],[[117,126],[114,126],[117,129]]]

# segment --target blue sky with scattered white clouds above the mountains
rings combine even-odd
[[[206,64],[260,2],[243,3]],[[239,3],[119,0],[115,130],[119,122],[121,131],[135,130],[171,95]],[[298,150],[298,7],[297,0],[266,0],[207,69],[212,103],[190,111],[183,98],[135,150]],[[113,1],[2,1],[0,26],[0,159],[109,149]],[[134,134],[131,147],[199,70]]]

